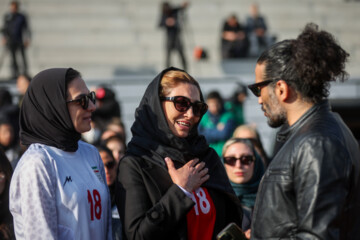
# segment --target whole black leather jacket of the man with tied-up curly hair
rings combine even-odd
[[[327,101],[278,134],[259,188],[252,239],[360,239],[359,145]]]

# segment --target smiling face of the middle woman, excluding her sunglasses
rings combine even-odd
[[[195,101],[200,101],[199,89],[190,83],[180,82],[165,97],[175,96],[187,97],[192,103]],[[191,129],[200,120],[200,116],[197,117],[194,115],[193,107],[190,107],[185,112],[179,112],[176,110],[172,101],[162,101],[162,108],[171,132],[177,137],[187,137]]]

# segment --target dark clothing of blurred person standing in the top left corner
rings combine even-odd
[[[27,61],[24,46],[24,34],[30,39],[30,28],[25,15],[21,13],[7,13],[4,17],[3,35],[7,42],[12,59],[13,77],[19,75],[19,65],[16,59],[17,52],[21,53],[23,61],[23,74],[27,74]]]

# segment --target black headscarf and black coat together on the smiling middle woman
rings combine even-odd
[[[160,73],[148,86],[131,128],[131,139],[119,165],[117,206],[127,239],[187,239],[187,213],[193,200],[175,185],[166,168],[170,157],[176,168],[198,157],[209,169],[207,188],[216,209],[213,239],[228,223],[241,226],[242,211],[216,152],[193,126],[186,138],[176,137],[167,125],[159,99]],[[200,99],[203,96],[200,93]],[[125,238],[126,239],[126,238]]]

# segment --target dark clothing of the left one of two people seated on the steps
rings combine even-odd
[[[222,32],[244,32],[245,28],[237,23],[236,26],[230,26],[227,21],[223,25]],[[228,41],[221,38],[221,54],[223,59],[227,58],[244,58],[247,57],[249,51],[249,39],[245,36],[244,39],[236,39],[234,41]]]

